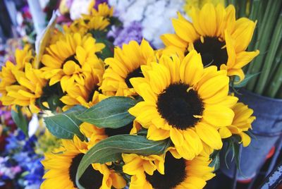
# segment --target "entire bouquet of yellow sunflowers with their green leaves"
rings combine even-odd
[[[259,54],[246,51],[256,22],[204,4],[192,21],[172,19],[163,49],[145,39],[114,47],[113,11],[100,4],[70,25],[54,15],[36,53],[27,45],[2,68],[1,102],[18,126],[40,114],[61,138],[41,188],[204,188],[223,141],[233,152],[250,144],[255,117],[234,93]]]

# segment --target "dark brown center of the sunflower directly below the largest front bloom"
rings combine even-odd
[[[146,173],[146,180],[156,189],[171,189],[182,183],[186,178],[186,164],[183,158],[176,159],[167,152],[164,161],[164,175],[154,171],[152,176]]]

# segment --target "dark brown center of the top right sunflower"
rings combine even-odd
[[[204,37],[204,42],[201,42],[200,39],[194,42],[194,48],[201,54],[204,66],[214,65],[218,69],[221,64],[227,63],[228,60],[225,45],[226,43],[219,41],[217,37]]]

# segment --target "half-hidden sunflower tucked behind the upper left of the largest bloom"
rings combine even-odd
[[[104,73],[103,84],[100,87],[106,95],[130,97],[136,92],[130,84],[130,78],[143,77],[140,66],[155,61],[154,50],[143,39],[141,44],[135,41],[123,44],[123,48],[114,49],[114,58],[108,58],[109,65]]]

